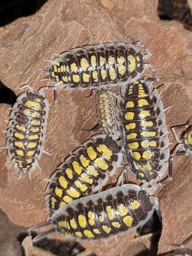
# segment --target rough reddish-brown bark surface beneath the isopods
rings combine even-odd
[[[141,40],[152,53],[147,61],[155,67],[160,77],[154,86],[165,84],[162,101],[165,107],[172,106],[165,113],[168,129],[184,124],[192,113],[191,33],[179,27],[175,21],[168,23],[159,20],[156,9],[157,1],[49,0],[34,15],[0,28],[0,79],[16,94],[21,93],[16,87],[27,83],[37,90],[50,85],[39,82],[45,74],[37,69],[46,66],[43,59],[52,59],[53,52],[60,53],[99,42]],[[89,138],[89,134],[83,133],[81,128],[90,129],[97,123],[94,97],[85,99],[89,94],[88,90],[80,93],[60,89],[59,99],[64,102],[64,106],[61,106],[54,102],[52,91],[45,92],[50,103],[45,150],[52,155],[42,155],[39,160],[42,171],[35,169],[31,181],[24,175],[19,181],[18,173],[13,166],[9,166],[10,158],[6,150],[0,149],[0,207],[13,222],[29,227],[46,220],[47,211],[42,195],[47,181],[44,179],[51,176],[69,151],[72,152]],[[9,107],[7,104],[0,105],[0,130],[7,129],[3,120],[8,120]],[[176,145],[172,134],[169,138]],[[5,146],[5,139],[6,135],[2,133],[1,146]],[[163,217],[159,252],[167,251],[167,241],[180,242],[183,236],[189,234],[192,211],[189,204],[191,189],[187,184],[191,177],[190,165],[186,158],[176,159],[173,182],[157,193]],[[111,177],[105,187],[114,185],[117,178],[118,175]],[[177,205],[178,201],[182,207],[185,206],[184,209]],[[39,232],[46,228],[39,229]],[[52,234],[51,237],[66,239],[59,234]],[[129,251],[133,237],[134,232],[128,232],[117,236],[117,241],[110,238],[107,244],[104,241],[80,243],[98,256],[116,256],[124,249]]]

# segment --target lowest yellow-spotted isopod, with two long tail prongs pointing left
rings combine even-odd
[[[157,208],[157,198],[148,197],[147,190],[126,184],[69,202],[51,220],[29,230],[48,224],[54,226],[36,236],[34,242],[56,231],[79,239],[108,238],[143,225]]]

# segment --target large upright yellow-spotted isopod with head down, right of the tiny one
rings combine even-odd
[[[146,165],[152,179],[162,177],[168,167],[169,150],[165,114],[157,89],[141,79],[124,85],[118,95],[116,116],[118,129],[125,129],[128,152]],[[145,173],[138,172],[140,166],[130,162],[126,154],[124,160],[133,177],[148,180]]]

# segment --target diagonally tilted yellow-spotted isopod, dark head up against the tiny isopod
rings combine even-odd
[[[77,148],[51,175],[45,205],[54,212],[64,204],[97,192],[121,165],[123,155],[115,140],[94,135]],[[51,215],[51,214],[49,214]]]

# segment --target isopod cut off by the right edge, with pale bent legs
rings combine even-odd
[[[173,151],[170,157],[170,177],[172,178],[172,169],[173,169],[173,158],[179,156],[187,156],[190,160],[192,160],[192,117],[189,119],[186,125],[173,126],[171,128],[175,140],[179,143],[175,150]],[[183,137],[180,139],[177,135],[176,130],[182,129],[184,131]]]

